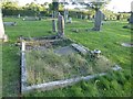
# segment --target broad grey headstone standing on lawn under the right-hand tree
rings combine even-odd
[[[94,18],[94,28],[92,30],[94,30],[94,31],[101,30],[101,24],[102,24],[103,18],[104,18],[104,14],[100,10],[98,10],[95,13],[95,18]]]

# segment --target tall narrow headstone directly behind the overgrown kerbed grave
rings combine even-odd
[[[58,35],[59,35],[59,37],[64,36],[64,19],[60,13],[58,16]]]

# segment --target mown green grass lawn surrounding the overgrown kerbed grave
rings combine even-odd
[[[20,50],[16,46],[17,38],[23,36],[53,35],[51,20],[22,21],[21,19],[4,18],[4,21],[16,21],[17,26],[6,26],[9,42],[2,45],[2,90],[3,97],[19,96],[20,90]],[[131,96],[131,47],[123,47],[121,43],[131,42],[131,30],[122,29],[127,22],[110,21],[100,32],[84,31],[93,23],[86,20],[75,20],[65,24],[65,36],[89,47],[99,48],[110,61],[119,64],[122,72],[110,72],[104,77],[90,81],[81,81],[74,86],[50,91],[34,90],[25,94],[27,97],[121,97]],[[82,30],[74,33],[72,29]]]

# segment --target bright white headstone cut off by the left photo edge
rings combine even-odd
[[[2,40],[3,42],[8,41],[8,36],[4,34],[1,9],[0,9],[0,40]]]

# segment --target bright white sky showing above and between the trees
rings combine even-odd
[[[34,0],[18,0],[21,6],[30,3]],[[106,9],[114,12],[129,12],[131,11],[131,2],[133,0],[111,0]],[[37,0],[38,3],[52,2],[52,0]],[[133,8],[133,4],[132,4]]]

